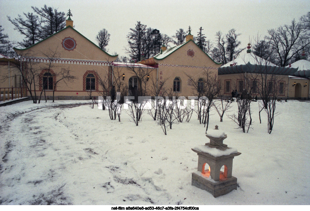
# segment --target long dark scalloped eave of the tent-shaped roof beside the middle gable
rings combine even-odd
[[[270,65],[258,65],[248,62],[245,65],[221,66],[218,68],[219,75],[234,74],[234,73],[263,73],[263,74],[277,74],[277,75],[294,75],[297,68],[279,67]]]

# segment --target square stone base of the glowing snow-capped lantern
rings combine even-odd
[[[237,190],[237,178],[230,177],[224,181],[211,182],[207,178],[199,175],[198,173],[192,173],[192,185],[202,190],[208,191],[214,197],[225,195],[232,190]]]

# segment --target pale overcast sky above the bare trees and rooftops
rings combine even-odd
[[[246,47],[258,34],[263,38],[268,29],[289,25],[310,11],[309,0],[0,0],[0,25],[10,40],[21,41],[23,36],[14,30],[7,16],[13,19],[23,12],[32,12],[31,6],[41,8],[44,4],[65,13],[70,9],[75,29],[94,43],[98,32],[107,29],[111,34],[108,53],[117,52],[120,56],[126,55],[127,35],[137,21],[169,36],[179,28],[187,30],[189,25],[196,36],[202,26],[211,41],[216,32],[226,34],[235,28],[241,33],[242,47]]]

